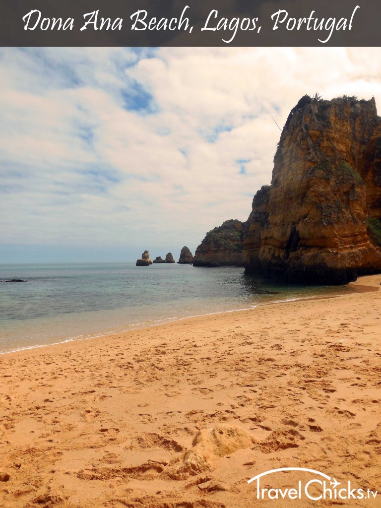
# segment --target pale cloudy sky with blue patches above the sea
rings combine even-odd
[[[0,263],[194,253],[316,92],[380,107],[381,48],[0,48]]]

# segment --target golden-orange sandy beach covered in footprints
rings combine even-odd
[[[380,282],[1,356],[0,506],[381,506],[247,483],[381,489]]]

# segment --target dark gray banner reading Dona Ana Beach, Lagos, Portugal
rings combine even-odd
[[[16,0],[2,46],[379,46],[374,0]]]

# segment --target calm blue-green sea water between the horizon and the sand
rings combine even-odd
[[[0,353],[351,287],[280,285],[243,268],[158,264],[0,265]]]

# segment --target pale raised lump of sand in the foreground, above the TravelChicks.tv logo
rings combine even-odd
[[[195,436],[192,448],[180,459],[180,465],[169,472],[173,480],[185,480],[189,475],[213,469],[218,457],[236,450],[250,448],[257,439],[250,432],[231,425],[217,425],[201,429]]]

